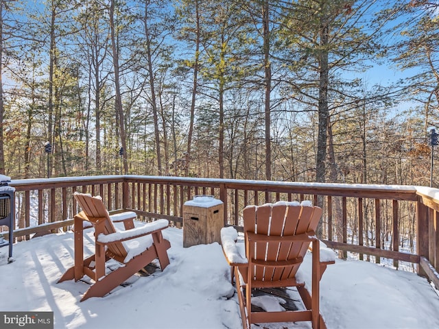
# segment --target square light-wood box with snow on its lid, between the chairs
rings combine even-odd
[[[183,247],[221,243],[224,204],[211,195],[197,195],[183,205]]]

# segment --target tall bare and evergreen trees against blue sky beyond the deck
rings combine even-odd
[[[0,17],[12,179],[429,185],[437,1],[0,0]]]

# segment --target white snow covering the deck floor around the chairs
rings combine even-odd
[[[93,231],[86,231],[86,254]],[[55,328],[241,328],[237,295],[221,246],[182,247],[182,230],[168,228],[170,265],[136,277],[103,298],[80,302],[84,282],[57,283],[73,265],[73,232],[16,243],[14,263],[0,249],[0,311],[53,311]],[[301,275],[310,278],[307,255]],[[328,328],[439,328],[439,297],[424,278],[359,261],[336,260],[321,281]],[[266,328],[311,328],[268,324]],[[263,328],[253,326],[253,328]]]

